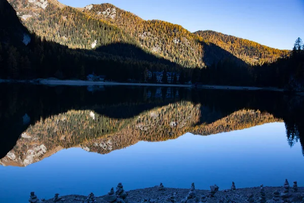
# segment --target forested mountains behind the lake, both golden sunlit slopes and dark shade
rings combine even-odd
[[[304,89],[304,47],[279,50],[215,31],[143,20],[110,4],[84,9],[56,0],[1,0],[0,78],[146,82],[145,71],[193,84]],[[156,82],[150,80],[148,82]],[[167,82],[167,81],[162,81]]]

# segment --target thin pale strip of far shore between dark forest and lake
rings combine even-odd
[[[121,82],[96,82],[96,81],[84,81],[84,80],[53,80],[53,79],[34,79],[34,80],[1,80],[0,83],[30,83],[37,85],[48,85],[48,86],[155,86],[155,87],[186,87],[195,88],[193,84],[154,84],[154,83],[121,83]],[[197,85],[198,89],[223,89],[223,90],[243,90],[243,91],[279,91],[283,92],[283,89],[276,87],[249,87],[249,86],[224,86],[224,85]],[[302,95],[302,93],[297,93]]]

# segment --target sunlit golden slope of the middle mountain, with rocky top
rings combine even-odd
[[[84,13],[117,25],[155,55],[185,67],[202,67],[203,46],[199,38],[180,25],[161,20],[143,20],[111,4],[89,5]]]

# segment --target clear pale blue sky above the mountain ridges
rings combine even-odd
[[[110,3],[145,20],[215,30],[279,49],[304,38],[304,0],[59,0],[72,7]]]

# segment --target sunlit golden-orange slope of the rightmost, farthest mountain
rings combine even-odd
[[[290,52],[289,50],[267,47],[250,40],[224,35],[223,33],[212,30],[200,30],[194,33],[202,37],[205,41],[219,46],[249,64],[275,62],[278,58],[286,57]]]

